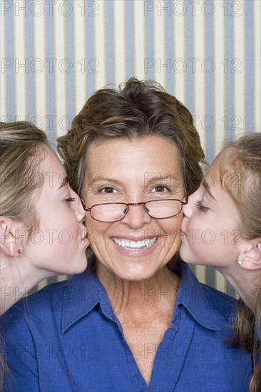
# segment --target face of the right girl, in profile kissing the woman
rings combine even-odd
[[[237,261],[239,214],[220,185],[219,163],[219,158],[214,161],[198,190],[188,197],[188,205],[183,206],[180,257],[190,264],[218,268]],[[230,180],[235,182],[235,177]]]

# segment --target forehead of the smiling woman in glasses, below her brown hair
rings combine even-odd
[[[183,176],[178,156],[175,145],[164,138],[118,139],[91,145],[85,183],[94,186],[111,181],[147,187],[151,182],[180,182]]]

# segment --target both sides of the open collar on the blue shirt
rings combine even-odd
[[[108,296],[90,264],[85,272],[73,276],[66,284],[63,294],[62,332],[66,332],[97,304],[100,304],[108,319],[115,318]],[[203,285],[198,282],[188,264],[180,260],[173,267],[173,272],[182,276],[173,317],[178,306],[185,306],[202,326],[219,330],[222,327],[222,318],[220,319],[220,314],[217,316],[217,309],[208,299]]]

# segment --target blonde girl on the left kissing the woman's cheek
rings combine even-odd
[[[89,242],[81,201],[44,132],[1,123],[0,153],[3,314],[41,280],[83,272]]]

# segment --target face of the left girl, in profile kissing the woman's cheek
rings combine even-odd
[[[81,200],[66,182],[63,165],[49,148],[46,151],[38,173],[41,186],[33,195],[39,224],[23,252],[46,277],[76,274],[87,267],[85,214]]]

